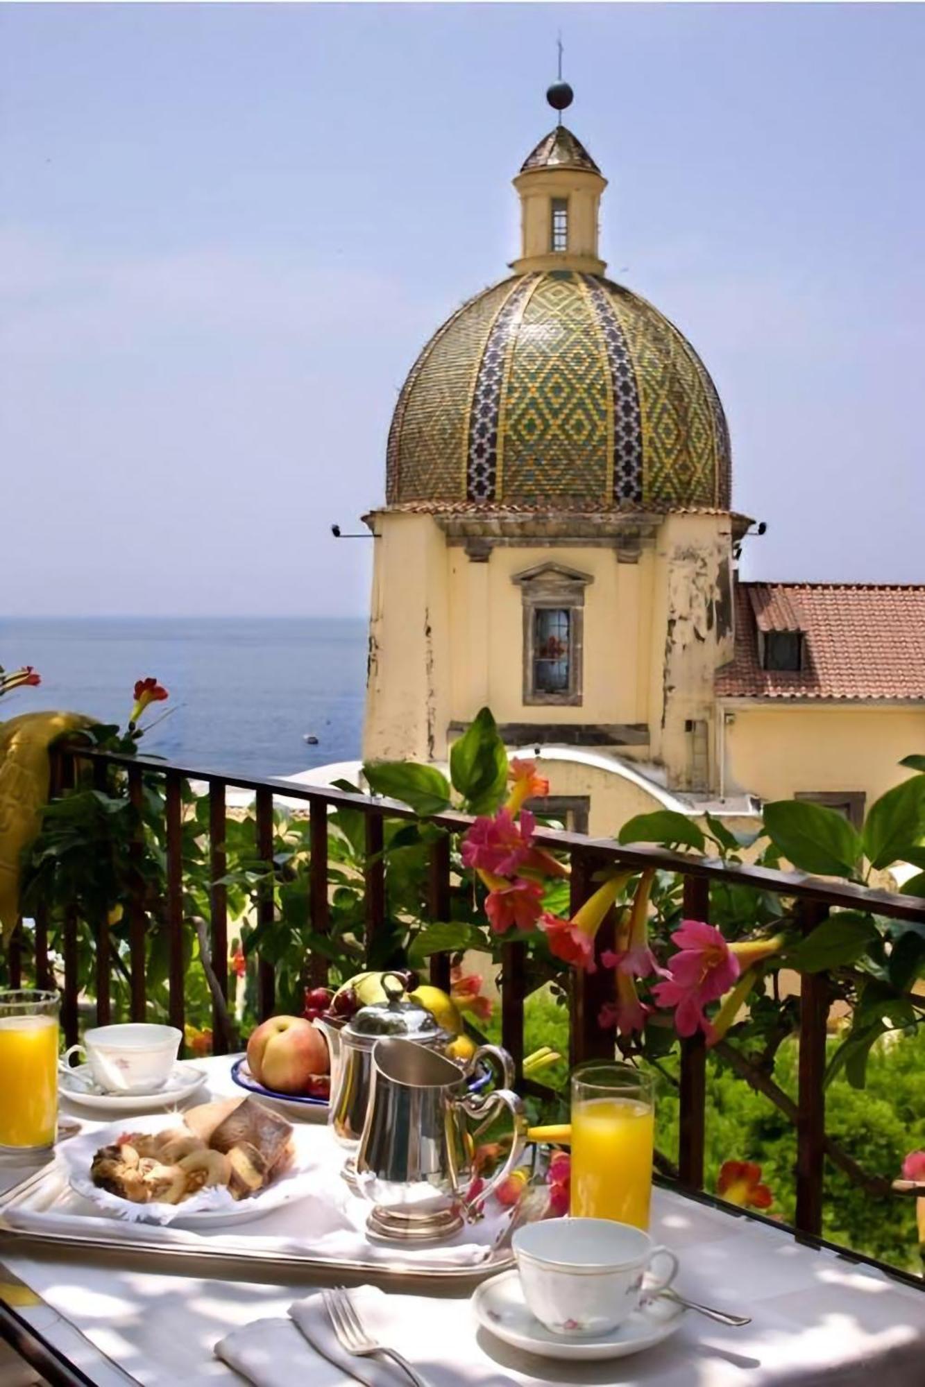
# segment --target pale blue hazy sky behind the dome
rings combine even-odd
[[[925,8],[0,6],[0,612],[361,614],[401,381],[568,125],[749,578],[925,581]]]

